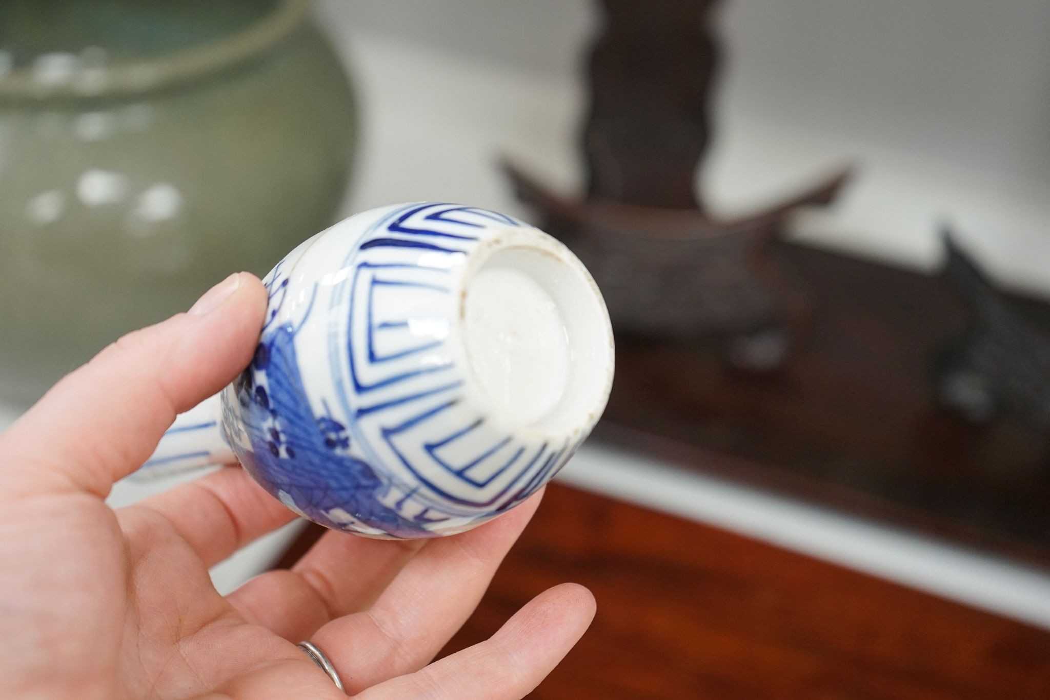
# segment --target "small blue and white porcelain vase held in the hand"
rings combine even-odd
[[[602,296],[565,246],[512,217],[376,209],[304,241],[264,282],[251,365],[180,417],[147,472],[236,459],[315,523],[433,537],[522,503],[605,408]]]

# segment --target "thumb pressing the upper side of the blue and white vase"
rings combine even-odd
[[[5,495],[105,497],[149,458],[177,413],[248,364],[266,304],[257,278],[231,275],[188,313],[124,336],[68,375],[0,436]]]

